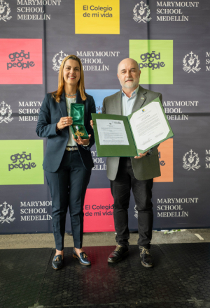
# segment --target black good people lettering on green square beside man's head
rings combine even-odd
[[[161,67],[165,66],[165,63],[162,61],[156,62],[155,60],[160,60],[160,52],[155,53],[155,51],[152,51],[151,54],[149,52],[146,52],[145,54],[140,55],[140,59],[143,63],[139,63],[139,68],[152,68],[154,69],[160,69]],[[148,63],[145,63],[148,61]]]

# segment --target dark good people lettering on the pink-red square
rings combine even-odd
[[[30,52],[25,52],[25,50],[21,50],[20,52],[13,52],[9,54],[10,62],[7,63],[7,69],[13,67],[19,67],[21,69],[33,67],[35,65],[34,61],[25,61],[30,59]],[[15,60],[17,60],[15,62]]]

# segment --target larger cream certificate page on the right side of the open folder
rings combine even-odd
[[[165,115],[156,101],[134,112],[130,118],[130,125],[137,148],[142,150],[153,147],[169,133]]]

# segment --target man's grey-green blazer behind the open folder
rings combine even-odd
[[[139,86],[139,91],[132,112],[137,111],[139,108],[153,101],[153,99],[157,97],[159,97],[162,102],[162,94]],[[122,115],[122,91],[104,98],[102,113],[109,115]],[[106,174],[111,180],[116,179],[119,160],[120,157],[108,157],[106,160]],[[134,157],[131,157],[131,161],[136,179],[144,180],[153,179],[153,177],[160,177],[158,146],[153,147],[151,155],[144,156],[141,159],[134,159]]]

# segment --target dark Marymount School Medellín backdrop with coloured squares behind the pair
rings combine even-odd
[[[174,131],[159,147],[153,228],[210,227],[209,13],[209,0],[0,0],[0,233],[52,232],[42,168],[47,140],[35,129],[68,54],[80,57],[97,112],[120,90],[118,63],[137,60],[142,87],[162,93]],[[113,231],[106,159],[95,147],[92,158],[85,232]],[[133,196],[129,215],[137,229]]]

